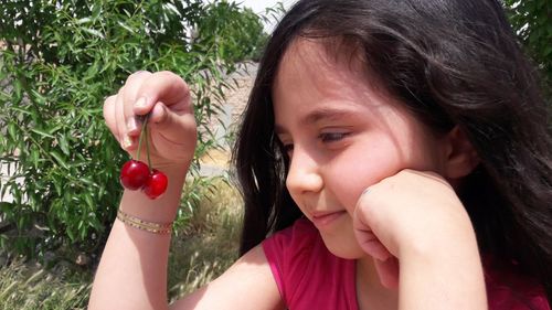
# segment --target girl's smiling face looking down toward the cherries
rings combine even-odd
[[[337,54],[337,53],[336,53]],[[275,84],[275,132],[290,158],[286,185],[326,246],[360,258],[352,215],[368,186],[403,169],[439,173],[443,139],[378,89],[350,53],[296,40]]]

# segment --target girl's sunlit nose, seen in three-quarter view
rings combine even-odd
[[[290,159],[286,186],[291,194],[317,193],[323,188],[320,165],[308,152],[297,147]]]

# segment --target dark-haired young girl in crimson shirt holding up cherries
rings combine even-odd
[[[242,257],[171,309],[550,309],[552,139],[495,0],[302,0],[266,47],[235,148]],[[107,98],[131,154],[150,113],[169,189],[125,191],[89,309],[168,309],[195,124],[178,76]]]

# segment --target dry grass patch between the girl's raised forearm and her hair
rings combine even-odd
[[[181,297],[210,282],[237,258],[242,200],[222,179],[172,240],[169,296]]]

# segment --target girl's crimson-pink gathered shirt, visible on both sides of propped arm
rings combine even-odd
[[[358,310],[355,261],[332,255],[316,227],[300,218],[263,242],[282,298],[291,310]],[[485,280],[490,310],[550,310],[539,285],[489,268]]]

